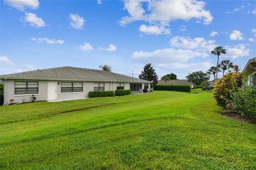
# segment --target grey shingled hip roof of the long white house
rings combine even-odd
[[[42,79],[42,80],[75,80],[75,81],[105,81],[105,82],[133,82],[151,83],[147,80],[132,78],[127,75],[117,74],[108,71],[84,69],[78,67],[57,67],[0,75],[0,79]]]

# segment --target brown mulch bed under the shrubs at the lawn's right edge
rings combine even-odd
[[[242,122],[251,123],[251,124],[256,124],[256,121],[250,120],[248,117],[246,117],[245,115],[241,115],[237,111],[226,109],[226,110],[222,111],[221,114],[224,115],[224,116],[227,116],[227,117],[229,117],[233,120],[242,121]]]

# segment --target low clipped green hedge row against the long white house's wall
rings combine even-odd
[[[116,91],[90,91],[88,97],[113,97],[130,95],[131,90],[116,90]]]

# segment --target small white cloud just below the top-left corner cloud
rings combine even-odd
[[[33,13],[25,13],[25,17],[21,19],[22,22],[28,22],[30,26],[41,28],[45,27],[45,22],[42,18],[36,16]]]

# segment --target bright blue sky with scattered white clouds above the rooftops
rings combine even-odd
[[[256,56],[256,1],[1,1],[0,74],[76,66],[158,78]]]

